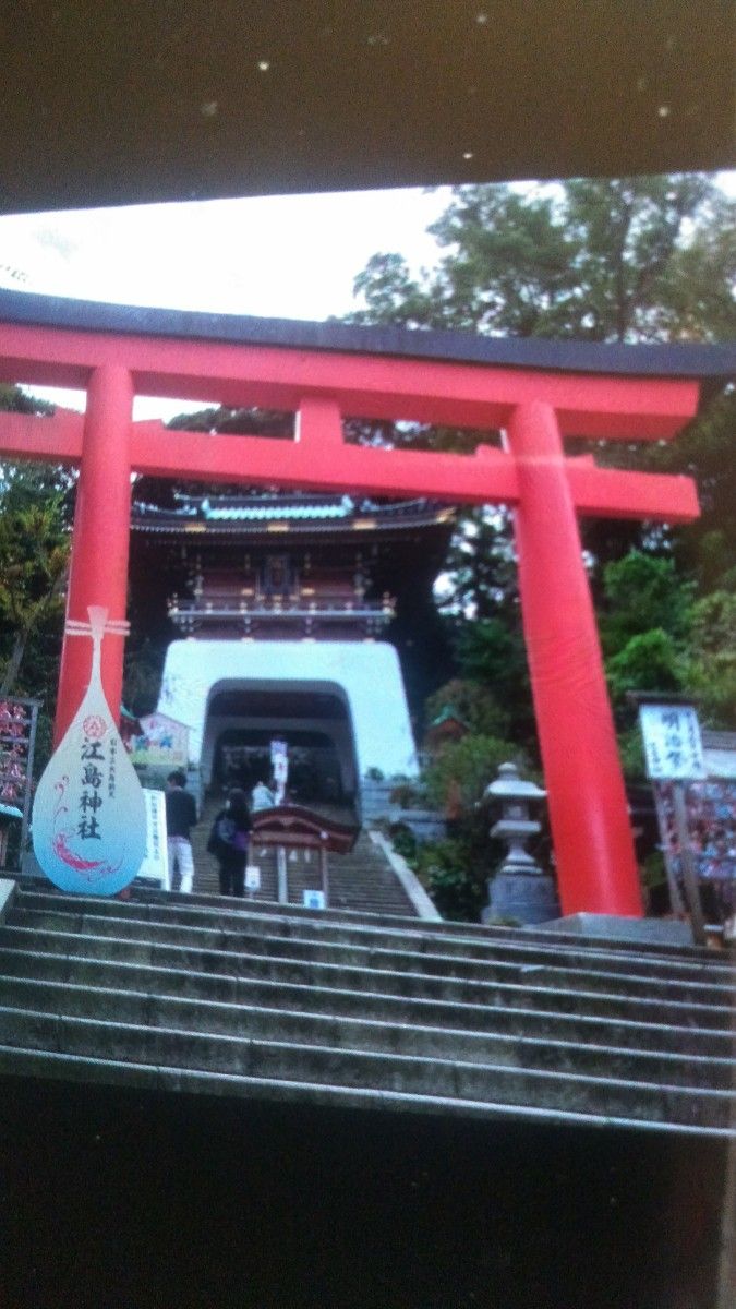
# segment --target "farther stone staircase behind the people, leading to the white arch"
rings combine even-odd
[[[207,800],[202,818],[191,834],[194,855],[194,890],[203,895],[217,895],[217,860],[207,853],[207,840],[221,800]],[[261,889],[249,893],[250,902],[278,901],[276,851],[254,840],[249,864],[261,869]],[[330,907],[365,914],[398,914],[410,916],[416,910],[401,885],[385,855],[376,848],[365,831],[360,833],[355,848],[348,855],[329,856]],[[295,850],[287,855],[288,903],[303,905],[303,891],[318,890],[320,861],[309,850]]]

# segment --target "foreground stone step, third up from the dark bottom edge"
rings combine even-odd
[[[76,953],[34,953],[0,949],[0,970],[13,978],[64,982],[101,990],[139,990],[178,999],[211,1000],[241,1007],[288,1008],[330,1017],[367,1017],[378,1022],[456,1026],[462,1030],[494,1031],[499,1035],[532,1035],[579,1043],[600,1043],[630,1050],[669,1051],[715,1059],[733,1050],[727,1028],[698,1028],[617,1020],[580,1013],[504,1005],[439,1000],[415,995],[388,995],[380,991],[351,991],[343,986],[284,982],[240,977],[236,973],[207,973],[162,965],[88,958]]]

